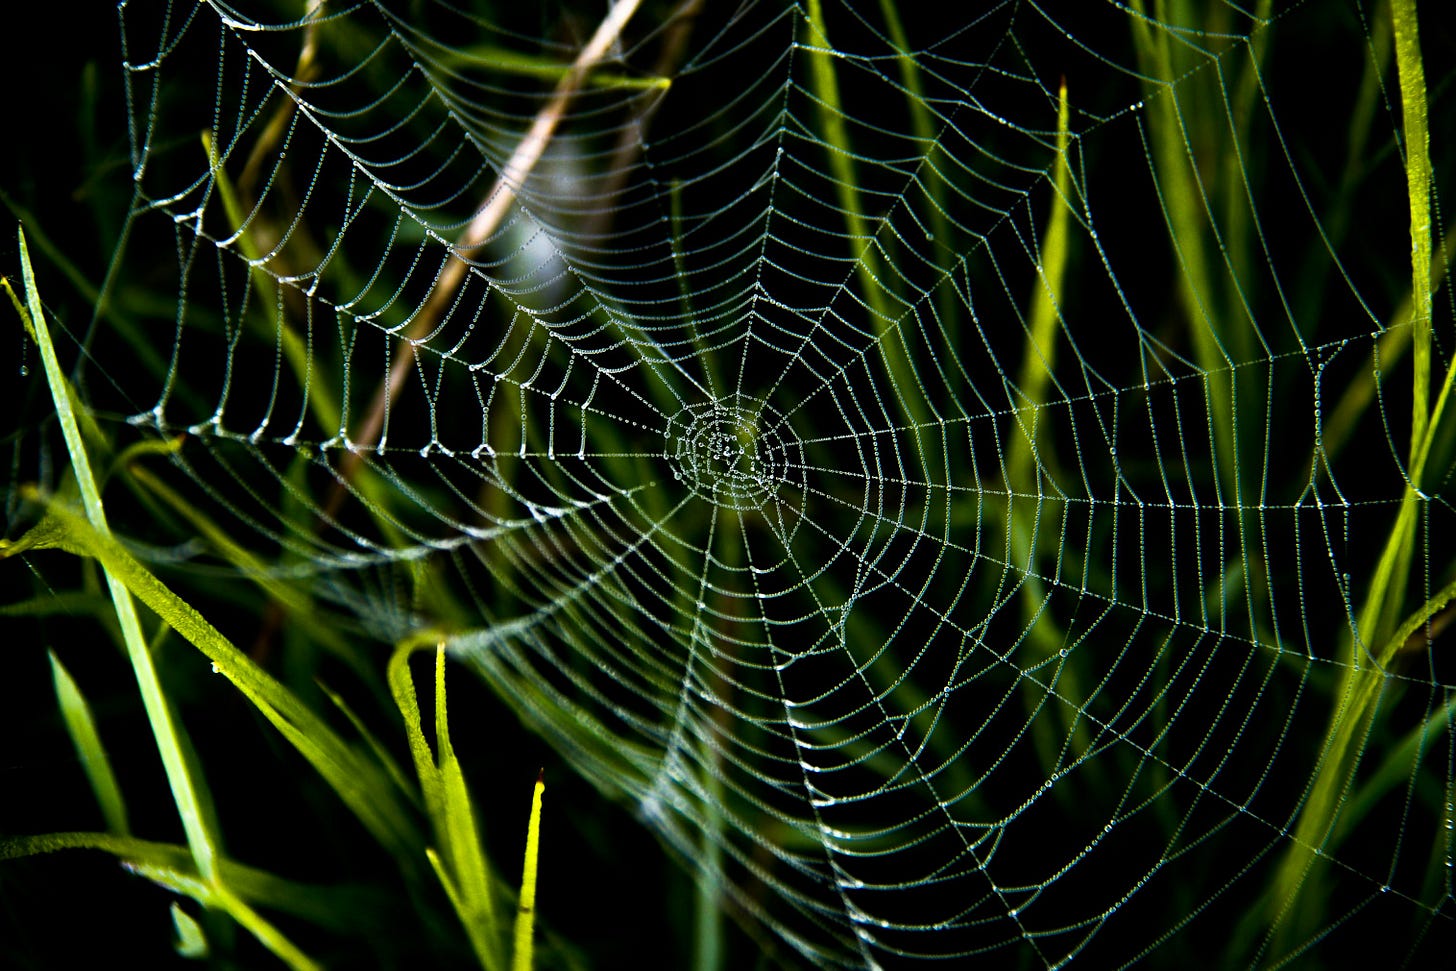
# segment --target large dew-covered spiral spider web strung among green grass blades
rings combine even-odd
[[[96,360],[274,569],[811,964],[1449,943],[1385,7],[547,6],[121,4]]]

